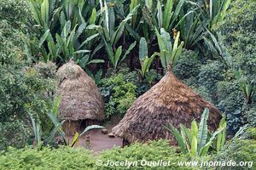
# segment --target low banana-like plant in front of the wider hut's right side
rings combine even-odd
[[[195,121],[191,122],[191,128],[185,127],[183,124],[180,124],[180,133],[176,127],[173,127],[172,124],[169,124],[166,127],[177,139],[177,144],[179,145],[183,154],[189,153],[190,156],[207,156],[209,148],[213,143],[216,143],[215,150],[219,152],[224,147],[226,139],[226,122],[225,117],[219,122],[218,129],[209,136],[207,129],[207,119],[209,116],[208,108],[201,115],[201,122],[199,127]]]

